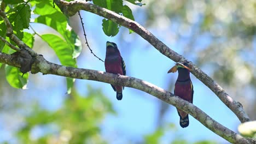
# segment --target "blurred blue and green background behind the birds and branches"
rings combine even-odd
[[[135,20],[174,51],[194,62],[240,101],[256,119],[256,1],[144,1],[126,3]],[[128,76],[173,92],[177,74],[167,74],[174,62],[136,33],[121,27],[115,37],[102,31],[102,17],[82,11],[89,45],[102,59],[106,41],[117,43]],[[83,51],[78,67],[104,71],[85,45],[78,16],[71,26],[80,35]],[[31,23],[39,34],[57,33]],[[30,32],[28,30],[28,32]],[[39,37],[34,51],[60,64],[54,51]],[[179,127],[176,108],[133,88],[121,101],[108,83],[76,80],[68,95],[65,77],[30,75],[27,89],[14,89],[0,69],[0,143],[228,143],[193,117]],[[238,118],[191,74],[194,104],[213,119],[237,132]]]

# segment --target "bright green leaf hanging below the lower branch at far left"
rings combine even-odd
[[[24,74],[23,77],[22,73],[20,72],[19,68],[12,67],[10,65],[5,65],[5,76],[7,82],[10,86],[14,88],[22,88],[26,89],[27,82],[28,82],[28,73]]]

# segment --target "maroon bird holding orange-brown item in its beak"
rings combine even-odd
[[[174,86],[174,95],[193,103],[193,84],[190,80],[190,68],[187,63],[176,63],[168,73],[175,73],[178,70],[178,78]],[[182,128],[188,127],[188,113],[177,109],[179,115],[179,125]]]

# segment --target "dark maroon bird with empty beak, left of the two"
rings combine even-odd
[[[106,58],[105,69],[108,73],[117,75],[126,75],[125,62],[118,50],[117,44],[107,41],[106,43]],[[111,85],[115,92],[117,92],[117,99],[123,98],[123,86]]]

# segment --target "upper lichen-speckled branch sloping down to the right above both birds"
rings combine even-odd
[[[142,38],[147,40],[151,45],[155,47],[155,49],[157,49],[166,57],[172,59],[174,62],[189,62],[188,59],[171,50],[146,28],[139,25],[139,23],[127,19],[126,17],[114,13],[113,11],[98,7],[97,5],[85,1],[66,2],[62,0],[55,0],[55,3],[62,10],[62,12],[68,16],[74,15],[79,10],[85,10],[112,20],[121,26],[132,29],[132,31],[136,32]],[[243,110],[243,106],[239,102],[233,100],[229,94],[226,93],[224,89],[218,85],[217,82],[211,79],[211,77],[205,74],[200,68],[197,68],[195,64],[192,62],[189,62],[189,64],[192,66],[191,73],[194,74],[197,79],[202,81],[207,87],[209,87],[219,97],[219,99],[222,100],[222,102],[228,106],[232,112],[235,113],[235,115],[238,117],[238,119],[240,119],[242,123],[249,121],[248,115],[246,114],[245,110]]]

